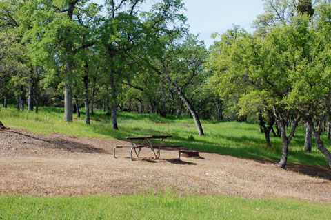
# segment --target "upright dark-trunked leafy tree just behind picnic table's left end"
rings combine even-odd
[[[170,21],[181,17],[180,14],[175,14],[182,7],[181,1],[163,0],[153,5],[150,12],[142,13],[139,17],[137,7],[140,3],[141,1],[109,1],[107,4],[109,17],[101,26],[101,43],[108,55],[114,129],[118,129],[116,118],[120,85],[123,79],[128,78],[126,77],[128,68],[125,63],[137,63],[140,68],[146,67],[147,63],[141,62],[141,59],[162,51],[160,41],[162,34],[172,32],[168,28]]]

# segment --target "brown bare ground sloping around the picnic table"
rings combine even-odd
[[[122,195],[176,189],[199,195],[292,197],[331,203],[331,171],[200,152],[201,159],[161,151],[157,161],[143,148],[131,161],[130,148],[112,149],[121,140],[36,135],[0,130],[0,193],[18,195]]]

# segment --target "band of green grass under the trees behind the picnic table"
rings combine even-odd
[[[272,147],[265,147],[264,134],[259,133],[257,124],[202,120],[205,136],[201,137],[197,134],[194,122],[190,118],[161,118],[156,114],[120,112],[118,116],[119,131],[116,131],[111,128],[110,116],[102,111],[97,110],[91,117],[90,126],[85,124],[84,116],[83,112],[81,120],[68,123],[63,121],[63,108],[41,107],[38,115],[33,112],[17,111],[13,106],[8,109],[1,108],[0,111],[0,120],[3,124],[27,129],[32,133],[58,132],[82,137],[117,139],[135,135],[173,135],[174,137],[167,140],[167,144],[181,144],[199,151],[243,158],[263,158],[274,161],[281,158],[281,139],[270,137]],[[97,122],[95,119],[101,121]],[[328,166],[325,157],[314,148],[314,141],[312,152],[305,153],[303,150],[304,137],[305,130],[303,127],[299,127],[290,142],[288,161]],[[327,140],[325,135],[322,139],[330,150],[331,141]]]

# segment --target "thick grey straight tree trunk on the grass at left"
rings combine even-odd
[[[68,62],[66,68],[66,80],[64,83],[64,118],[66,122],[72,122],[72,67],[73,63]]]

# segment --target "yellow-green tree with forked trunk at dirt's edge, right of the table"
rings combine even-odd
[[[274,28],[260,39],[238,29],[229,31],[222,36],[220,49],[215,61],[209,64],[221,72],[214,72],[217,89],[224,94],[237,91],[241,113],[245,111],[272,112],[281,130],[283,152],[279,166],[285,167],[288,157],[288,144],[292,140],[300,117],[294,122],[290,135],[286,134],[293,109],[284,103],[291,91],[290,78],[287,77],[288,53],[284,50],[286,39],[282,34],[285,30]],[[216,66],[215,66],[216,65]],[[243,89],[244,93],[243,93]]]

